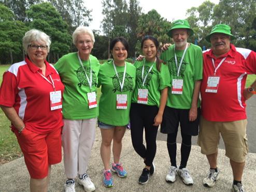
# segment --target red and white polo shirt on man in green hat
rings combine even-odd
[[[256,73],[256,53],[244,48],[231,45],[228,53],[215,57],[212,50],[204,52],[203,81],[201,85],[202,115],[208,121],[229,122],[244,120],[246,103],[243,95],[248,74]],[[216,72],[220,77],[217,93],[205,92],[209,76],[214,75],[215,67],[221,60],[225,61]]]

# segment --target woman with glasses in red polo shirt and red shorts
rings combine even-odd
[[[30,190],[47,191],[51,165],[61,161],[62,93],[58,72],[46,61],[50,37],[31,29],[23,37],[25,61],[3,75],[0,106],[11,121],[25,164]]]

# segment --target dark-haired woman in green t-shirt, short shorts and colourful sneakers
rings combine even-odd
[[[104,180],[106,187],[113,186],[110,171],[111,142],[113,141],[112,171],[124,178],[127,173],[120,163],[122,138],[129,123],[132,92],[135,87],[135,67],[128,62],[127,41],[118,37],[110,42],[113,61],[104,63],[99,69],[98,85],[102,86],[99,101],[98,127],[101,128],[101,156],[104,164]]]

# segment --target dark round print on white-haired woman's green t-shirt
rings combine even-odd
[[[83,66],[83,68],[86,71],[88,78],[90,79],[90,67]],[[88,83],[88,80],[86,78],[86,74],[84,73],[83,68],[79,67],[77,70],[75,70],[75,72],[77,73],[77,79],[80,82],[80,83],[78,83],[79,87],[81,87],[82,85],[89,86],[89,83]],[[96,75],[93,70],[92,70],[92,85],[96,85]]]

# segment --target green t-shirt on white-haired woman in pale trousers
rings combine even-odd
[[[90,55],[92,66],[92,92],[96,92],[99,62]],[[87,93],[90,86],[84,70],[90,80],[90,60],[82,61],[83,67],[78,60],[78,54],[69,53],[60,58],[54,65],[59,72],[61,81],[65,85],[63,93],[62,112],[63,118],[68,120],[91,119],[98,116],[98,108],[89,109]],[[84,70],[83,70],[84,68]]]

